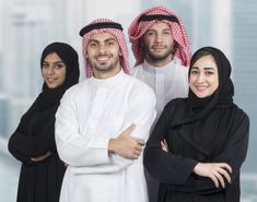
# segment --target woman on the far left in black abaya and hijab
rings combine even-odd
[[[22,163],[17,202],[58,202],[66,170],[55,143],[55,114],[66,90],[79,81],[77,51],[63,43],[48,45],[40,59],[43,91],[22,116],[9,140]]]

